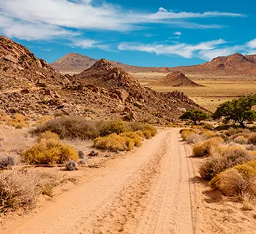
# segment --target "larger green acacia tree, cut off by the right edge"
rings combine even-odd
[[[242,128],[245,128],[246,120],[256,120],[256,112],[252,110],[252,106],[256,105],[256,94],[232,101],[226,101],[220,104],[217,111],[213,114],[214,119],[225,118],[225,122],[233,121],[236,125],[238,122]]]

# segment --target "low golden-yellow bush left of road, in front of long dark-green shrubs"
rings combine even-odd
[[[117,135],[116,133],[94,139],[94,147],[99,149],[126,151],[131,150],[134,146],[135,143],[132,139],[129,139],[127,136]]]

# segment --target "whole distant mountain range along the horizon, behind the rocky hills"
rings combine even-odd
[[[50,63],[53,69],[62,73],[81,72],[89,69],[97,60],[77,53],[68,53],[59,61]],[[217,57],[212,61],[195,66],[178,67],[140,67],[130,66],[116,61],[108,61],[113,66],[127,72],[170,72],[181,71],[185,74],[249,75],[256,76],[256,55],[235,53],[226,57]]]

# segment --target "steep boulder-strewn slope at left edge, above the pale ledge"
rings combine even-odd
[[[29,87],[40,79],[48,85],[64,80],[43,59],[36,58],[26,47],[0,36],[0,87]]]

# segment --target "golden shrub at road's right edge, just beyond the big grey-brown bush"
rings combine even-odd
[[[210,155],[211,149],[224,143],[221,137],[214,137],[203,142],[195,144],[193,147],[193,155],[196,157],[203,157]]]

